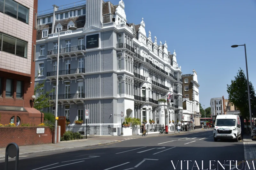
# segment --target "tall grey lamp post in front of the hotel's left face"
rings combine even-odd
[[[68,28],[68,30],[76,30],[77,28],[74,26],[71,26]],[[58,121],[56,117],[58,116],[58,87],[59,87],[59,55],[60,55],[60,32],[66,31],[66,30],[61,30],[58,33],[58,47],[57,47],[57,74],[56,74],[56,101],[55,101],[55,130],[54,130],[54,144],[57,144],[57,126],[58,126]]]

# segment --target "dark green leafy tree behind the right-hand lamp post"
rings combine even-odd
[[[251,105],[256,104],[255,91],[251,82],[249,82]],[[227,85],[228,98],[231,105],[235,105],[241,112],[244,119],[249,120],[249,101],[248,101],[248,88],[247,78],[244,75],[244,71],[240,68],[235,80],[231,80],[231,84]]]

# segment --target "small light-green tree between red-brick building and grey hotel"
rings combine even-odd
[[[37,73],[37,76],[35,78],[37,78],[38,75],[39,75],[39,72]],[[34,108],[41,111],[43,110],[43,108],[52,106],[49,103],[49,100],[51,100],[51,97],[49,96],[49,94],[54,91],[53,89],[50,91],[45,91],[43,89],[44,83],[45,83],[45,80],[42,83],[36,83],[36,86],[34,89],[34,95],[36,95],[36,93],[38,94],[38,96],[34,101]]]

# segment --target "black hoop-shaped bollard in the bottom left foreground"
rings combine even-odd
[[[5,170],[8,170],[8,158],[14,158],[15,159],[15,170],[18,170],[19,165],[19,153],[20,149],[19,146],[15,143],[10,143],[7,145],[5,149]]]

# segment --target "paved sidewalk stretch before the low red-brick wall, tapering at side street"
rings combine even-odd
[[[101,139],[99,141],[97,139],[82,139],[82,140],[64,141],[57,144],[38,144],[38,145],[19,146],[19,149],[20,149],[19,155],[21,156],[21,155],[28,155],[28,154],[42,153],[42,152],[61,151],[66,149],[110,144],[114,142],[118,142],[118,140]],[[5,158],[5,148],[0,148],[0,159],[1,158]]]

